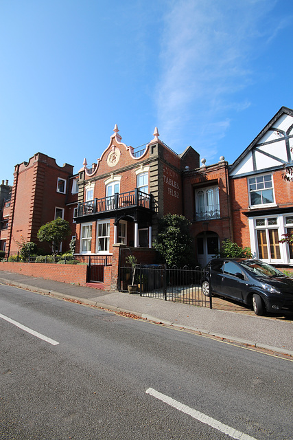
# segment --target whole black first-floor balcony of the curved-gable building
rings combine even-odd
[[[121,194],[117,192],[110,197],[78,203],[78,214],[74,219],[76,223],[107,217],[115,217],[117,220],[129,216],[137,219],[137,212],[152,213],[152,195],[135,188]]]

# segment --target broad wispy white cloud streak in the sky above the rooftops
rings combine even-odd
[[[274,0],[179,0],[164,17],[161,41],[161,78],[157,83],[156,109],[159,130],[172,148],[209,146],[217,153],[232,111],[242,111],[250,101],[239,92],[254,82],[255,45],[268,42],[273,31],[263,33],[264,17]],[[266,7],[265,7],[266,6]],[[284,23],[280,23],[284,25]],[[276,31],[277,32],[277,31]]]

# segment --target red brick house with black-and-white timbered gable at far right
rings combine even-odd
[[[279,243],[293,231],[293,111],[282,107],[229,167],[233,237],[255,258],[293,263],[292,246]],[[287,178],[286,178],[287,177]]]

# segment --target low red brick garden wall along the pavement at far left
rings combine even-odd
[[[37,276],[53,281],[86,285],[86,265],[45,264],[45,263],[2,263],[0,270],[18,274]]]

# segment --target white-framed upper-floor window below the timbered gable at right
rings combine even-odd
[[[250,206],[268,205],[274,203],[274,188],[272,175],[250,177],[248,179]]]

